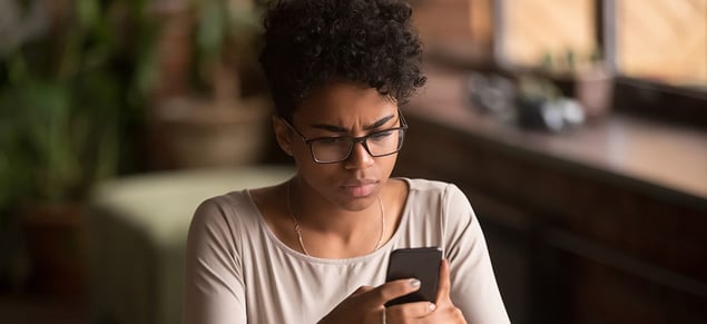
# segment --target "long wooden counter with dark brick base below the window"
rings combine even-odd
[[[707,131],[620,114],[521,129],[471,107],[465,80],[429,70],[396,173],[469,195],[513,323],[707,318]]]

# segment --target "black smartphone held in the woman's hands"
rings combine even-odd
[[[400,248],[391,253],[385,282],[403,278],[420,281],[420,289],[385,303],[392,306],[404,303],[436,302],[442,249],[439,247]]]

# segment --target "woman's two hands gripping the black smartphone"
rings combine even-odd
[[[418,279],[400,279],[377,287],[362,286],[328,313],[320,324],[346,323],[467,323],[450,298],[450,273],[446,259],[440,264],[436,304],[406,303],[385,308],[391,300],[420,288]]]

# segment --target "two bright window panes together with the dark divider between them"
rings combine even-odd
[[[707,90],[707,0],[495,0],[495,6],[502,66],[571,72],[603,57],[621,77]]]

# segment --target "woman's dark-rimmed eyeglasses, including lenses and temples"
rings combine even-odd
[[[400,151],[405,130],[407,130],[407,122],[400,111],[397,116],[400,116],[400,127],[374,131],[362,137],[336,136],[307,139],[287,120],[283,119],[283,121],[310,146],[310,153],[315,163],[333,164],[346,160],[356,143],[361,143],[372,157],[382,157]]]

